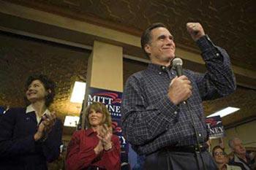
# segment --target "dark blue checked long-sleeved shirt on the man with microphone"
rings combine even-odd
[[[199,142],[206,142],[207,130],[202,101],[227,96],[236,89],[226,51],[215,46],[208,36],[197,40],[206,62],[205,74],[184,70],[192,82],[187,104],[173,104],[167,96],[172,68],[149,63],[148,68],[132,74],[126,82],[121,104],[124,136],[140,155],[165,146],[196,144],[189,112],[195,120]]]

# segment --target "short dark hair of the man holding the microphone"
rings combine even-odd
[[[143,31],[143,34],[141,35],[140,37],[140,45],[141,45],[141,48],[143,50],[143,52],[148,56],[148,53],[146,53],[144,47],[145,45],[147,45],[148,43],[151,42],[151,31],[154,29],[154,28],[159,28],[159,27],[163,27],[163,28],[167,28],[165,26],[165,24],[163,23],[153,23],[151,24],[151,26],[148,26],[148,28],[146,28],[145,31]],[[148,56],[149,57],[149,56]]]

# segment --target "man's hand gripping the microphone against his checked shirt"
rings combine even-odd
[[[181,101],[186,101],[192,95],[192,85],[188,78],[184,75],[175,77],[170,82],[168,96],[173,104],[179,104]]]

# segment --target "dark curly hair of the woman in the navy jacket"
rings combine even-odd
[[[34,80],[39,80],[40,82],[42,82],[42,84],[45,87],[45,90],[50,89],[50,93],[48,93],[48,96],[45,97],[45,106],[49,107],[50,104],[53,102],[53,98],[55,96],[55,88],[56,88],[55,82],[53,82],[53,80],[50,80],[44,74],[34,74],[34,75],[29,76],[29,78],[26,80],[26,85],[25,85],[26,90],[28,90],[29,85]],[[25,102],[27,105],[30,104],[30,102],[28,101],[27,98],[25,98]]]

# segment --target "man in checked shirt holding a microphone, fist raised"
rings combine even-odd
[[[206,151],[202,101],[233,93],[236,82],[227,52],[211,42],[200,23],[187,23],[187,31],[202,52],[206,73],[172,66],[173,35],[164,24],[154,23],[140,40],[151,63],[125,85],[122,129],[132,148],[146,155],[147,170],[217,169]]]

